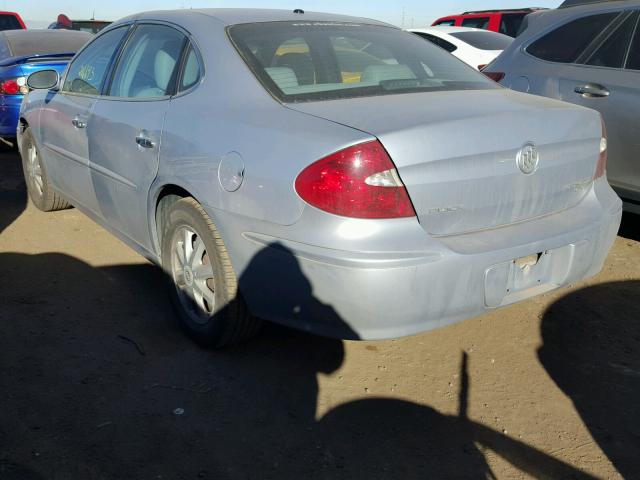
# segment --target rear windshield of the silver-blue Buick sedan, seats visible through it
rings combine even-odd
[[[267,22],[232,26],[229,35],[283,102],[499,88],[441,48],[393,27]]]

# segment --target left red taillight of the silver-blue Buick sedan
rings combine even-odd
[[[409,195],[377,140],[333,153],[305,168],[296,192],[310,205],[352,218],[413,217]]]

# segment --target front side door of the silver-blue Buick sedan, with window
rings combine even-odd
[[[41,110],[42,147],[53,184],[74,204],[95,211],[96,198],[89,175],[88,132],[91,111],[128,27],[96,38],[73,60],[60,91],[51,91]]]

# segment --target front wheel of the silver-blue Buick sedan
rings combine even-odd
[[[70,208],[71,204],[51,187],[40,151],[28,127],[22,134],[20,152],[27,191],[36,208],[43,212]]]

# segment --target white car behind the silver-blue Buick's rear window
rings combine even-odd
[[[479,28],[425,27],[409,31],[444,48],[477,70],[491,63],[513,41],[502,33]]]

